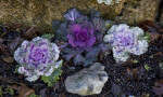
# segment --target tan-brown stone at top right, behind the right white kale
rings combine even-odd
[[[154,22],[160,4],[161,0],[133,0],[133,3],[126,2],[122,13],[115,17],[115,20],[131,25],[142,20]]]

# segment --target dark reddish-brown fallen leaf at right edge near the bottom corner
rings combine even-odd
[[[163,80],[156,81],[154,85],[152,92],[155,93],[155,95],[163,95]]]

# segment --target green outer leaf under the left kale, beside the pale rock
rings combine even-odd
[[[45,83],[48,83],[48,86],[52,87],[54,85],[54,83],[60,79],[60,75],[62,74],[62,70],[61,69],[55,69],[51,75],[49,77],[41,77],[41,80]]]

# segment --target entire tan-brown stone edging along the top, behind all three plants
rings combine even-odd
[[[0,23],[24,23],[51,31],[51,22],[63,20],[63,14],[70,8],[77,8],[86,14],[91,9],[101,12],[105,19],[115,18],[118,23],[137,24],[141,20],[154,20],[161,0],[122,0],[115,5],[97,3],[97,0],[0,0]]]

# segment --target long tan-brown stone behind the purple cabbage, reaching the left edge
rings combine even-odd
[[[51,22],[63,19],[63,14],[70,8],[77,8],[86,14],[91,9],[101,12],[102,16],[113,18],[122,11],[125,0],[115,6],[98,4],[97,0],[0,0],[0,23],[25,23],[26,26],[50,31]]]

